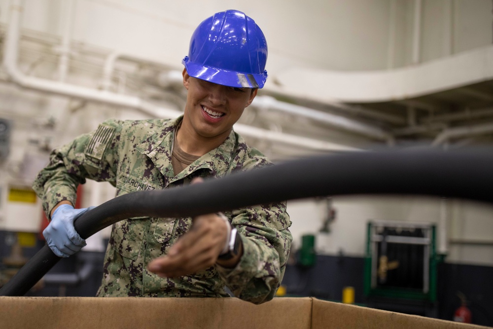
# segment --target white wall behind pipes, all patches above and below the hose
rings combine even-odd
[[[22,22],[24,33],[38,34],[52,43],[59,42],[63,32],[60,17],[63,1],[26,0]],[[0,0],[0,22],[3,24],[8,22],[9,3],[9,0]],[[227,9],[224,2],[218,0],[76,0],[74,3],[71,37],[79,51],[72,53],[68,81],[92,88],[101,85],[105,55],[115,50],[181,69],[181,59],[187,52],[188,40],[195,26],[213,12]],[[410,65],[415,3],[410,0],[232,0],[227,7],[245,11],[262,27],[269,42],[268,83],[275,83],[277,74],[292,67],[384,70]],[[491,11],[491,0],[423,0],[420,60],[434,60],[490,44]],[[56,78],[56,47],[49,42],[41,46],[30,42],[24,39],[22,43],[20,64],[23,72]],[[138,68],[135,73],[139,73]],[[303,88],[312,86],[300,85],[300,89]],[[139,91],[134,89],[131,92]],[[22,163],[28,136],[47,139],[55,146],[94,129],[107,117],[142,118],[145,115],[96,104],[83,106],[78,101],[21,90],[3,81],[0,83],[0,117],[15,120],[11,157],[2,165],[0,174],[2,182],[15,183],[16,173],[8,169]],[[56,118],[57,123],[51,130],[42,127],[50,117]],[[360,136],[334,132],[319,124],[310,126],[309,121],[296,122],[291,117],[283,117],[282,120],[295,123],[288,128],[292,132],[298,133],[302,127],[310,130],[307,135],[329,142],[351,146],[368,142]],[[267,154],[276,156],[276,150],[269,143],[255,139],[249,141]],[[304,152],[291,149],[285,154],[293,156]],[[93,184],[87,186],[89,195],[84,206],[93,201],[91,190],[94,190]],[[100,202],[111,197],[111,192],[109,187],[100,191]],[[336,197],[333,202],[337,218],[328,234],[317,233],[326,216],[324,201],[289,203],[295,245],[299,246],[301,235],[316,234],[320,253],[337,254],[342,251],[346,255],[362,256],[367,220],[437,222],[440,216],[437,200],[418,197]],[[472,239],[493,241],[493,212],[490,207],[455,201],[451,201],[448,207],[450,221],[447,233],[450,238],[469,242]],[[8,213],[3,215],[3,224],[14,220]],[[35,213],[29,213],[29,216],[35,216]],[[5,227],[1,226],[1,220],[0,228]],[[36,225],[37,222],[33,223],[33,229]],[[492,247],[487,244],[453,244],[449,246],[449,260],[493,264]]]

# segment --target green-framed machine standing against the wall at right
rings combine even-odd
[[[435,226],[370,221],[367,227],[364,295],[370,307],[436,315]]]

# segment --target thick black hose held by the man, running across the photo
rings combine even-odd
[[[413,194],[493,203],[493,149],[349,152],[285,162],[202,184],[125,194],[75,221],[88,238],[132,217],[193,217],[326,195]],[[28,292],[60,258],[44,246],[0,289]]]

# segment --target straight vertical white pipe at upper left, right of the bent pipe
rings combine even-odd
[[[58,80],[64,82],[69,70],[70,60],[70,37],[73,26],[73,0],[62,1],[61,26],[64,29],[62,35],[62,46],[60,47],[60,62],[58,63]]]

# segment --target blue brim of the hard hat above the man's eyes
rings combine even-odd
[[[267,80],[267,71],[263,74],[251,74],[222,70],[191,63],[188,56],[183,59],[182,63],[188,75],[228,87],[262,88]]]

